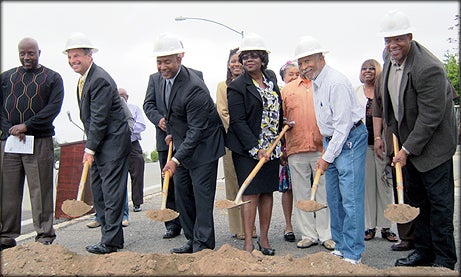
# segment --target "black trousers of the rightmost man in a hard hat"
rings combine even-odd
[[[418,171],[409,159],[403,170],[408,204],[420,209],[413,221],[416,251],[433,258],[438,265],[453,269],[456,264],[453,159],[427,172]]]

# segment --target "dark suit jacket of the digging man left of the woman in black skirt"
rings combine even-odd
[[[210,92],[200,77],[181,66],[173,83],[166,116],[173,137],[174,157],[194,168],[225,154],[224,127]]]

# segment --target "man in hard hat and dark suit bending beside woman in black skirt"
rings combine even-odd
[[[208,88],[191,69],[182,66],[184,48],[172,34],[154,43],[162,76],[160,101],[166,105],[166,140],[176,152],[163,168],[175,183],[175,202],[187,243],[173,253],[214,249],[213,203],[218,160],[225,153],[224,128]]]

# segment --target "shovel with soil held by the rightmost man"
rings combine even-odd
[[[397,136],[393,134],[394,156],[399,152],[399,142]],[[395,163],[395,172],[397,177],[397,200],[398,204],[389,204],[384,211],[384,216],[390,221],[396,223],[408,223],[419,215],[419,208],[412,207],[403,203],[403,178],[402,167],[400,163]]]

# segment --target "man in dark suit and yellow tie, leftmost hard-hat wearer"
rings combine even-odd
[[[86,250],[107,254],[124,244],[122,219],[131,132],[117,85],[93,63],[92,54],[96,51],[84,34],[75,33],[67,40],[64,53],[71,68],[81,75],[77,100],[87,136],[83,162],[91,166],[94,207],[102,225],[101,242],[87,246]]]

